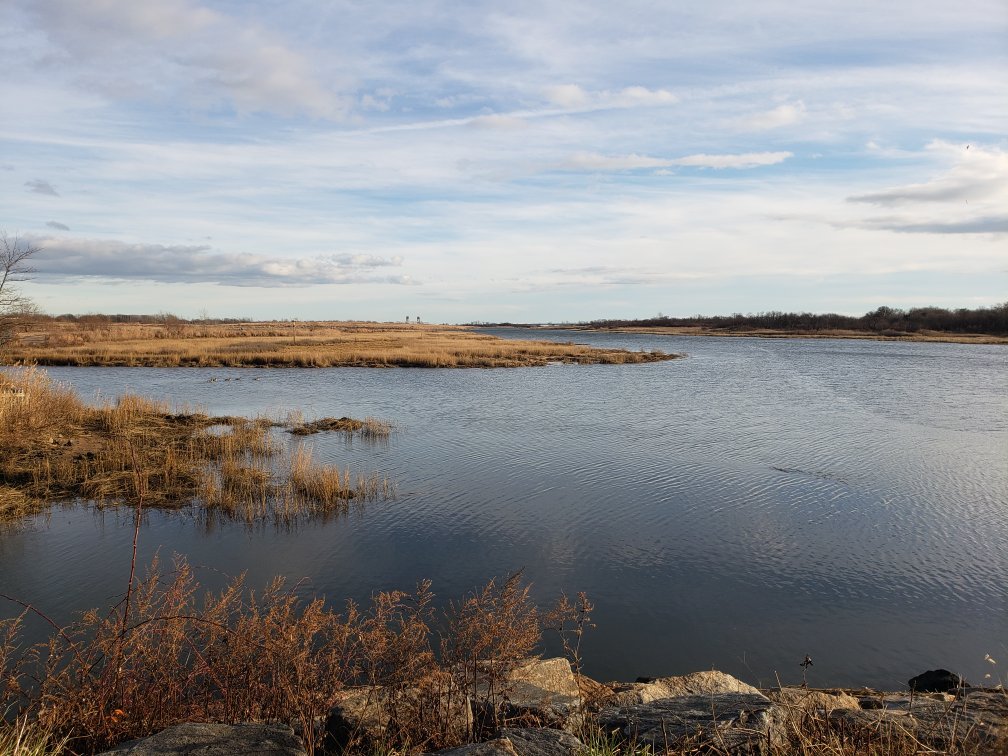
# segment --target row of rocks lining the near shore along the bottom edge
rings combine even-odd
[[[416,707],[439,707],[447,735],[467,743],[429,752],[440,756],[1008,753],[1008,692],[944,670],[905,691],[761,690],[717,670],[601,683],[565,659],[529,659],[508,669],[499,699],[482,692],[348,688],[316,726],[325,753],[336,754],[400,753],[387,745],[396,717]],[[186,723],[106,753],[306,756],[291,728],[264,723]]]

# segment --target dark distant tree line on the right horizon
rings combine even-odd
[[[1008,301],[991,307],[946,309],[944,307],[878,307],[860,318],[836,312],[781,312],[770,310],[730,316],[671,318],[658,313],[642,320],[599,320],[586,324],[593,328],[703,327],[723,331],[769,329],[773,331],[826,332],[862,331],[871,334],[913,334],[939,331],[950,334],[1008,335]]]

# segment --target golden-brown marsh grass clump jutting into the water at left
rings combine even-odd
[[[0,375],[0,521],[53,502],[142,499],[146,506],[196,506],[208,517],[289,522],[392,494],[377,473],[320,464],[310,447],[284,454],[276,426],[368,440],[392,432],[375,418],[212,417],[132,395],[93,407],[43,371],[11,371]]]

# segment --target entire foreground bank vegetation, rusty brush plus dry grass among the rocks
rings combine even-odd
[[[4,599],[10,601],[0,592]],[[543,726],[510,705],[512,672],[541,648],[543,634],[559,634],[577,673],[584,634],[594,627],[584,595],[542,612],[520,575],[491,581],[444,609],[434,609],[430,583],[421,582],[415,591],[377,593],[367,606],[348,603],[338,611],[321,599],[299,599],[280,580],[252,592],[238,579],[205,595],[182,559],[131,577],[117,604],[53,628],[49,641],[27,651],[18,648],[20,628],[28,615],[44,616],[21,606],[20,618],[0,621],[0,710],[14,720],[0,721],[4,756],[92,754],[182,722],[284,723],[300,733],[309,754],[339,756],[406,756],[486,741],[501,727]],[[952,697],[930,700],[938,716],[921,728],[908,714],[835,718],[838,699],[850,697],[799,687],[766,691],[777,707],[772,742],[754,722],[746,741],[752,748],[733,748],[712,719],[707,731],[644,747],[600,724],[600,708],[634,683],[580,674],[573,682],[582,703],[571,722],[580,723],[573,728],[583,756],[965,756],[1008,747],[1003,733],[972,725],[966,704]],[[367,733],[328,742],[317,725],[348,700],[358,701]],[[918,709],[921,700],[926,696]],[[473,717],[460,720],[467,701]],[[997,706],[1005,711],[1008,699]],[[5,745],[16,739],[26,743],[23,751]],[[481,751],[491,752],[509,751]]]

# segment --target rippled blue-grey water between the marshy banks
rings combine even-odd
[[[283,574],[342,604],[430,578],[456,599],[524,569],[543,603],[595,601],[585,653],[603,679],[717,667],[799,680],[806,653],[820,684],[1008,666],[1008,349],[542,336],[688,359],[49,372],[85,397],[400,425],[386,446],[313,436],[317,456],[398,483],[396,500],[349,518],[208,532],[152,512],[142,557],[185,554],[209,583]],[[0,591],[70,618],[122,590],[131,538],[128,513],[54,510],[0,534]]]

